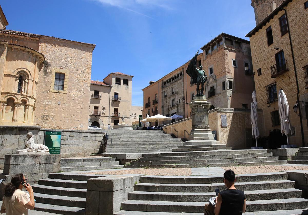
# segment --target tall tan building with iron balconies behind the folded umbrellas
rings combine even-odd
[[[259,7],[266,7],[268,2],[259,1]],[[280,145],[286,144],[286,137],[280,133],[278,113],[278,91],[283,89],[290,106],[290,121],[295,127],[289,142],[299,147],[307,146],[308,2],[281,2],[276,1],[278,6],[274,11],[262,12],[265,19],[246,35],[250,37],[253,70],[256,72],[258,108],[263,109],[264,114],[264,133],[261,136],[281,139]],[[261,17],[260,11],[255,9],[255,13],[256,17]],[[298,107],[297,113],[294,106]]]

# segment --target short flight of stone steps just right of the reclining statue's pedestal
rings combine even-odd
[[[123,168],[115,158],[107,157],[61,158],[60,163],[60,170],[63,172]]]

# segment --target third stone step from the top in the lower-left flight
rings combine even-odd
[[[82,197],[85,198],[87,194],[86,189],[76,189],[68,187],[55,187],[45,186],[40,184],[32,185],[34,193],[43,193],[47,195],[58,195],[58,196],[71,196],[71,197]]]

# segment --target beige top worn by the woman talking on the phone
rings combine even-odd
[[[24,206],[30,201],[28,194],[18,188],[11,197],[3,197],[1,208],[6,215],[28,215],[28,209]]]

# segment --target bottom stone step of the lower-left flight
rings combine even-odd
[[[48,213],[63,214],[63,215],[84,215],[86,211],[85,208],[81,208],[81,207],[49,205],[49,204],[43,204],[39,202],[35,202],[34,210],[44,211]]]

